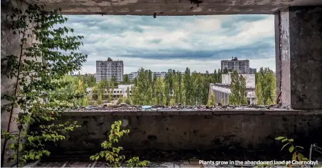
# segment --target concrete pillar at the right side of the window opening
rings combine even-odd
[[[322,109],[322,6],[286,8],[275,30],[277,103]]]

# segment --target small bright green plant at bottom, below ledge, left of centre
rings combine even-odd
[[[110,135],[108,136],[108,140],[102,142],[101,146],[105,151],[100,151],[100,153],[96,153],[91,156],[91,160],[98,160],[100,158],[104,158],[107,162],[109,162],[113,167],[120,167],[122,162],[125,160],[124,155],[120,155],[120,151],[123,150],[122,147],[114,147],[114,144],[119,141],[124,135],[129,134],[130,130],[121,130],[120,126],[122,121],[115,121],[111,126]],[[150,162],[143,160],[140,161],[138,157],[133,157],[129,160],[126,160],[127,167],[146,167]]]

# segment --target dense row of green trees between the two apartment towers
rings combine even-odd
[[[162,79],[153,75],[150,70],[140,68],[138,77],[134,79],[135,88],[132,88],[133,104],[207,104],[209,83],[221,81],[221,71],[218,72],[220,73],[190,73],[187,68],[182,74],[169,69]]]

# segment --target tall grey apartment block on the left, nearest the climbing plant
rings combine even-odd
[[[111,81],[112,77],[115,77],[117,82],[122,82],[123,73],[123,61],[113,61],[110,57],[107,61],[96,61],[96,82]]]

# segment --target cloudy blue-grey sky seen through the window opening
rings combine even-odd
[[[231,57],[275,70],[273,15],[70,15],[66,26],[84,36],[80,52],[88,59],[82,73],[95,73],[95,61],[108,57],[122,60],[124,73],[141,67],[213,72]]]

